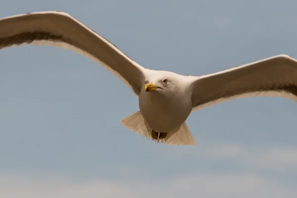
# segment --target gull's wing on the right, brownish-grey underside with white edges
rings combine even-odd
[[[276,55],[192,79],[193,111],[248,97],[297,101],[297,60],[288,55]]]

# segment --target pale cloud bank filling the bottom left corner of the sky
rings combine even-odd
[[[34,178],[6,174],[0,179],[0,195],[3,198],[129,198],[132,194],[125,185],[115,182],[75,183],[61,177]]]

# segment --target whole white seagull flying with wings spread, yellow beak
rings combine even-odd
[[[195,145],[186,120],[231,99],[282,97],[297,101],[297,60],[280,54],[202,76],[145,68],[68,13],[31,12],[0,19],[0,49],[49,45],[76,51],[122,80],[139,111],[120,120],[129,130],[165,145]]]

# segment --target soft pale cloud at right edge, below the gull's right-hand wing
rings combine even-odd
[[[272,171],[296,171],[297,148],[248,147],[236,144],[218,144],[202,150],[201,154],[212,159],[226,158],[248,168],[264,168]]]

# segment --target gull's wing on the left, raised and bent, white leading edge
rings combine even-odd
[[[98,62],[130,87],[141,91],[145,68],[71,15],[32,12],[0,19],[0,49],[33,44],[76,51]]]

